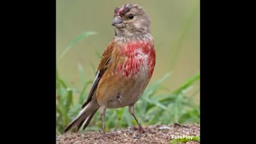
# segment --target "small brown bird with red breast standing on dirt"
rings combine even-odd
[[[150,19],[136,3],[115,8],[115,37],[104,50],[97,73],[79,114],[66,127],[65,132],[75,127],[88,126],[93,115],[100,111],[102,134],[106,109],[129,106],[129,113],[146,132],[134,114],[134,107],[145,91],[156,65],[156,51],[150,31]]]

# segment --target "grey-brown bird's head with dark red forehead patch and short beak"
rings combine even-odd
[[[129,37],[150,33],[150,19],[145,10],[136,3],[115,8],[112,26],[115,27],[115,36]]]

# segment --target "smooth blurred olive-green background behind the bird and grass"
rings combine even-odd
[[[171,93],[179,89],[189,79],[193,79],[196,74],[199,74],[199,0],[57,0],[57,59],[60,57],[61,52],[65,51],[67,45],[81,33],[86,31],[97,33],[97,35],[90,35],[77,42],[58,61],[58,76],[65,81],[67,87],[76,87],[77,92],[72,93],[72,98],[75,101],[79,98],[83,89],[81,71],[79,71],[77,65],[80,64],[83,67],[84,79],[86,81],[94,79],[95,68],[97,68],[99,63],[99,56],[96,53],[99,52],[101,55],[114,35],[113,26],[111,26],[114,9],[127,2],[138,3],[142,6],[152,22],[152,36],[154,36],[157,58],[150,84],[156,83],[157,80],[171,72],[170,76],[161,82],[162,88],[168,89],[168,92]],[[90,86],[90,84],[86,86],[87,91],[84,93],[84,99],[87,97]],[[191,91],[190,94],[192,95],[192,93],[197,91],[193,99],[196,99],[195,102],[198,104],[200,94],[198,92],[198,81],[193,88],[195,90]],[[154,95],[168,92],[159,90]],[[65,93],[57,93],[60,96],[65,95]],[[70,119],[70,116],[68,118]],[[65,123],[68,123],[69,119]],[[63,122],[63,119],[57,118],[57,123],[61,122]]]

